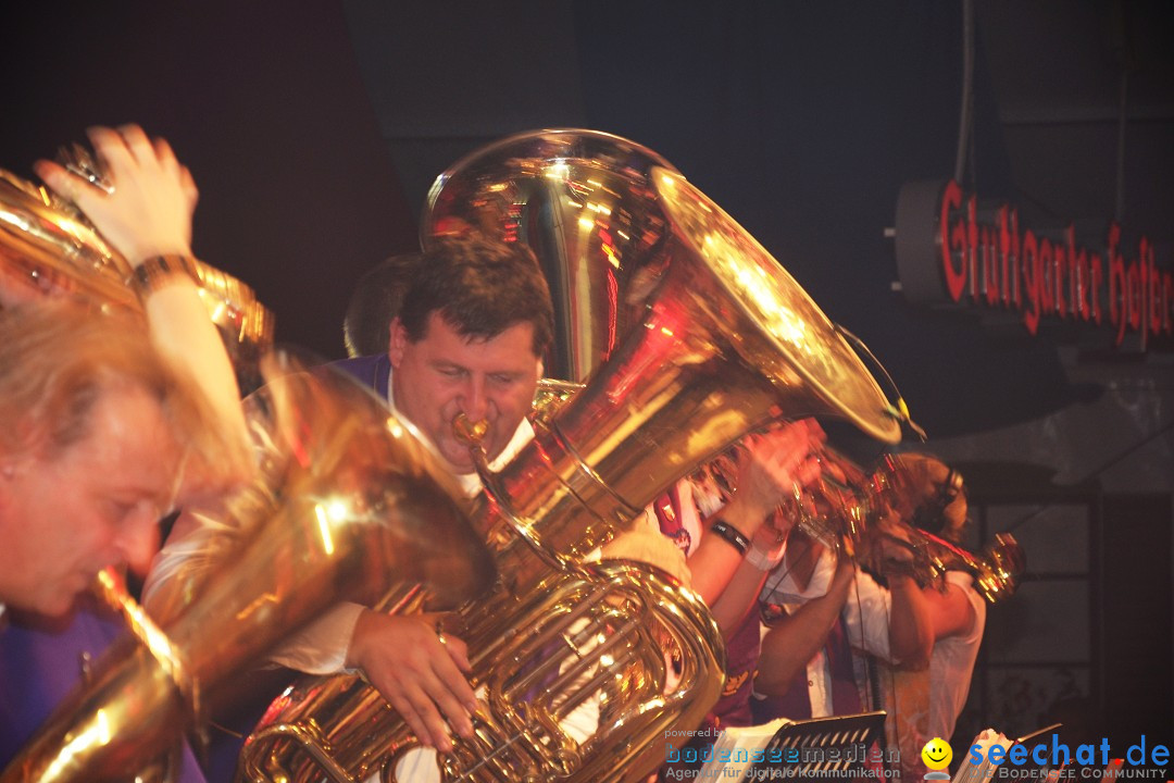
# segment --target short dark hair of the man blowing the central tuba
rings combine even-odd
[[[433,312],[466,338],[491,339],[528,323],[538,357],[553,339],[551,290],[534,254],[520,243],[479,236],[438,239],[420,258],[399,312],[410,340],[426,336]]]

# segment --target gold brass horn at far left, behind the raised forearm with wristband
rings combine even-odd
[[[130,264],[73,204],[0,169],[0,274],[41,290],[61,288],[103,308],[141,312]],[[274,316],[248,285],[195,262],[201,298],[237,364],[251,365],[272,343]]]

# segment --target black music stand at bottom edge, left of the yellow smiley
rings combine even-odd
[[[852,771],[862,772],[870,761],[876,761],[870,752],[872,745],[884,747],[884,710],[877,710],[789,721],[767,742],[764,761],[754,764],[742,781],[841,779]],[[888,769],[884,752],[880,763]]]

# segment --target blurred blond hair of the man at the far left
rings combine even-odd
[[[85,439],[95,404],[119,386],[146,391],[176,441],[215,461],[207,403],[151,347],[141,316],[75,299],[0,310],[0,454],[52,455]]]

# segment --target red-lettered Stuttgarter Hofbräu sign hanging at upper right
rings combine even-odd
[[[1108,325],[1114,345],[1136,335],[1145,350],[1174,333],[1174,272],[1158,266],[1146,237],[1129,254],[1116,223],[1100,248],[1081,244],[1072,225],[1037,232],[1014,207],[980,208],[953,181],[902,190],[897,265],[911,301],[1014,311],[1031,335],[1044,319]]]

